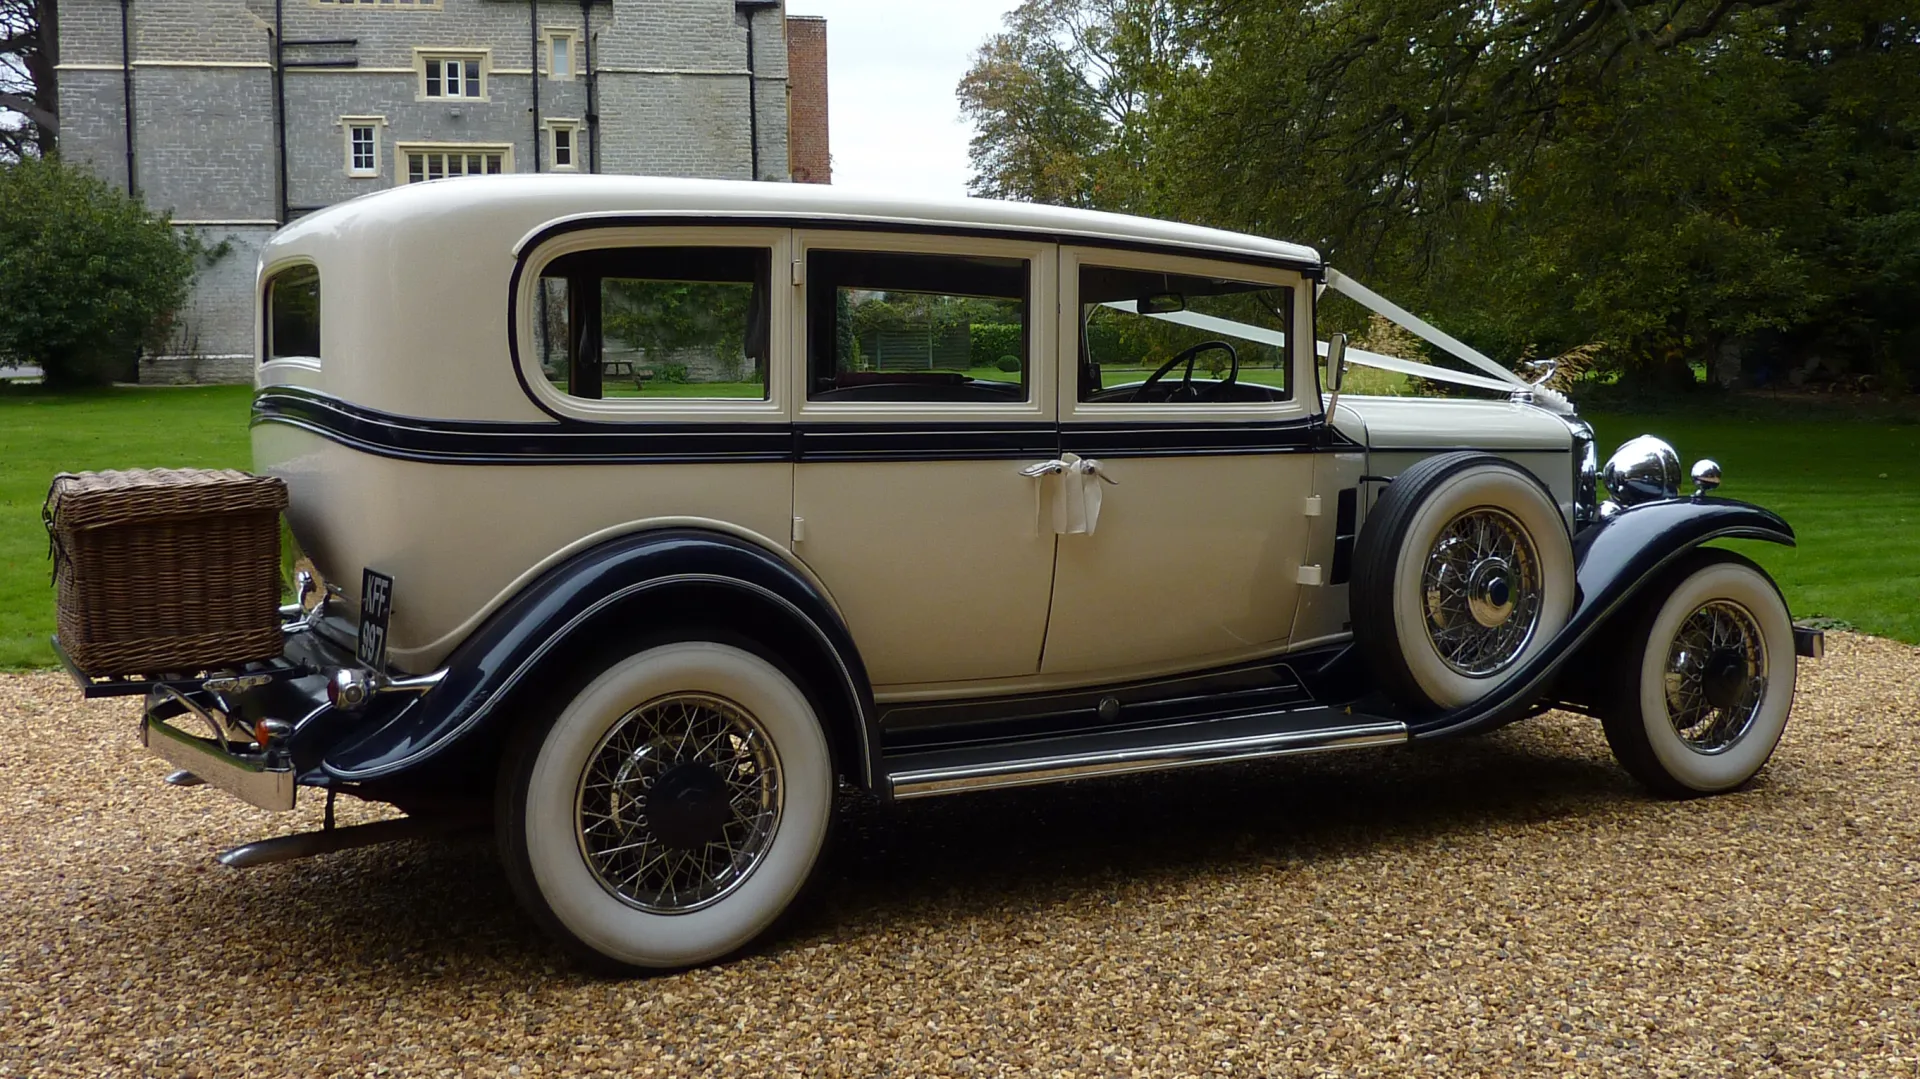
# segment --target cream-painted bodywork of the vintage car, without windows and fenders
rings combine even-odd
[[[1077,324],[1060,321],[1048,303],[1035,305],[1035,384],[1025,401],[812,405],[797,361],[806,332],[803,282],[772,296],[774,324],[787,332],[774,336],[768,399],[572,399],[530,371],[532,282],[543,259],[593,246],[764,244],[780,267],[804,265],[804,253],[818,246],[1010,253],[1031,259],[1035,294],[1058,294],[1058,309],[1075,303],[1071,267],[1094,255],[1139,269],[1244,275],[1290,286],[1304,324],[1311,319],[1311,290],[1292,267],[1313,267],[1317,257],[1290,244],[1117,215],[977,200],[889,202],[808,186],[580,177],[434,188],[355,200],[275,238],[263,255],[263,280],[290,265],[324,267],[321,340],[328,355],[269,359],[259,369],[261,390],[311,390],[399,422],[578,420],[636,430],[764,424],[770,432],[795,424],[899,424],[935,438],[943,426],[1056,419],[1069,434],[1173,419],[1225,430],[1300,422],[1317,411],[1311,394],[1273,405],[1179,407],[1177,415],[1167,415],[1165,405],[1077,407],[1071,363],[1058,361],[1073,355]],[[649,221],[634,225],[630,215]],[[676,225],[689,215],[701,225]],[[766,217],[814,227],[756,225]],[[555,227],[576,228],[541,242]],[[996,234],[975,238],[981,232]],[[528,273],[515,273],[515,255],[528,259]],[[396,288],[396,267],[413,267],[419,276]],[[422,317],[428,311],[461,317]],[[1292,378],[1311,386],[1304,334],[1300,342]],[[440,459],[432,451],[369,453],[280,415],[257,424],[253,440],[257,467],[292,486],[294,534],[330,570],[328,580],[346,589],[340,614],[351,616],[357,603],[355,566],[378,566],[401,582],[388,653],[399,670],[434,670],[530,580],[593,543],[697,524],[780,551],[820,580],[862,641],[876,691],[927,697],[972,693],[981,682],[995,691],[1058,687],[1284,651],[1296,639],[1302,566],[1332,559],[1332,534],[1313,536],[1308,499],[1340,476],[1346,482],[1338,486],[1356,486],[1361,472],[1379,472],[1367,461],[1369,447],[1390,449],[1382,463],[1394,465],[1438,449],[1490,449],[1532,468],[1572,513],[1572,438],[1567,424],[1540,409],[1348,397],[1348,415],[1352,422],[1342,426],[1357,445],[1331,455],[1319,478],[1319,455],[1175,449],[1114,461],[1110,472],[1119,484],[1106,493],[1100,526],[1091,536],[1058,540],[1058,555],[1050,507],[1037,509],[1041,484],[1018,476],[1006,457],[795,463],[743,455],[680,463],[641,451],[634,465],[582,468],[591,449],[513,453],[492,463],[484,451]],[[1050,457],[1050,447],[1041,447],[1012,461]],[[1119,566],[1221,543],[1236,557],[1213,564],[1169,559],[1156,580],[1142,582],[1146,591],[1112,587]],[[929,574],[914,559],[889,561],[889,551],[906,549],[977,555]],[[981,574],[995,574],[1000,587],[977,587]],[[941,611],[937,626],[925,622],[925,607]],[[1325,639],[1338,630],[1323,620],[1309,634]]]

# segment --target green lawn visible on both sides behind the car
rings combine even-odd
[[[52,666],[40,503],[54,472],[132,467],[246,468],[248,386],[56,396],[0,388],[0,670]],[[1720,493],[1764,505],[1799,547],[1740,543],[1772,572],[1793,614],[1920,643],[1920,422],[1849,419],[1837,405],[1713,401],[1688,411],[1588,417],[1603,451],[1651,432],[1682,463],[1713,457]]]

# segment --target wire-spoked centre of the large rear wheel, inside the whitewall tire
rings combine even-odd
[[[574,806],[601,887],[649,914],[685,914],[739,887],[772,845],[780,756],[739,705],[674,693],[612,724]]]

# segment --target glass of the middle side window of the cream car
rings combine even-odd
[[[1027,259],[806,253],[814,401],[1025,401]]]

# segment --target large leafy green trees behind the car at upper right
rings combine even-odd
[[[975,190],[1329,261],[1519,357],[1920,378],[1910,0],[1027,0]]]

